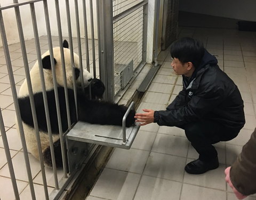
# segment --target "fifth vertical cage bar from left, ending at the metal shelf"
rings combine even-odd
[[[65,57],[64,57],[64,51],[63,51],[63,39],[62,39],[62,30],[61,30],[61,21],[60,21],[60,7],[59,7],[58,0],[55,0],[55,10],[57,15],[57,26],[58,26],[59,43],[60,43],[60,57],[61,57],[65,101],[66,101],[67,118],[68,118],[68,130],[70,130],[71,120],[70,120],[70,109],[69,109],[69,99],[68,99],[68,85],[67,85],[67,76],[66,76],[66,67],[65,67]]]

